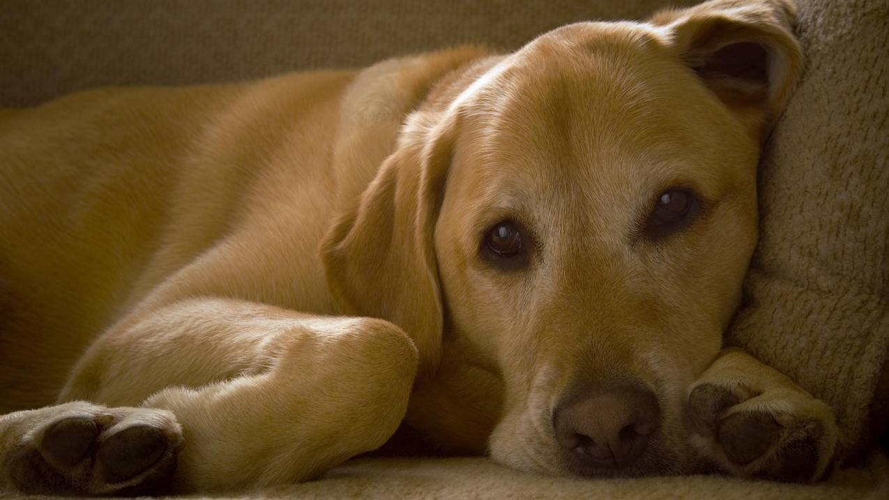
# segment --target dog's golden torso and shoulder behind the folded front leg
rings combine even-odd
[[[337,313],[316,251],[330,216],[434,83],[487,55],[0,109],[0,413],[52,403],[96,335],[231,240],[264,254],[241,262],[249,282],[205,294]]]

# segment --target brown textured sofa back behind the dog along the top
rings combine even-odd
[[[695,4],[673,0],[669,4]],[[454,44],[513,50],[666,0],[3,0],[0,106],[100,85],[187,85],[367,66]]]

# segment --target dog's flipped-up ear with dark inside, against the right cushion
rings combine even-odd
[[[802,69],[789,0],[713,0],[655,14],[668,46],[757,135],[781,113]]]

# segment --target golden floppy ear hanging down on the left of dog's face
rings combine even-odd
[[[445,113],[414,112],[358,204],[339,214],[321,258],[340,310],[404,329],[435,371],[444,321],[433,229],[453,141]]]

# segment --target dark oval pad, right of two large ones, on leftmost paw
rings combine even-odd
[[[109,483],[120,483],[148,471],[168,448],[164,434],[148,425],[133,425],[102,441],[99,464]]]

